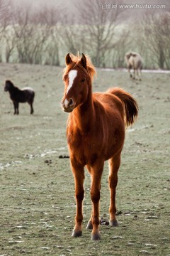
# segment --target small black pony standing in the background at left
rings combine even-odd
[[[35,92],[32,88],[26,87],[23,89],[19,89],[18,87],[13,85],[13,82],[11,82],[10,80],[6,80],[4,91],[9,92],[10,98],[13,101],[13,114],[19,114],[19,102],[28,102],[28,104],[30,105],[30,114],[33,114],[33,100]]]

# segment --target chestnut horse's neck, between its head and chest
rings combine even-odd
[[[93,127],[94,120],[94,99],[90,90],[86,102],[74,110],[74,122],[80,132],[87,133]]]

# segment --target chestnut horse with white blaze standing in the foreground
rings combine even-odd
[[[118,182],[120,154],[125,139],[125,126],[132,124],[138,114],[135,99],[120,88],[104,93],[92,93],[94,65],[84,54],[80,58],[69,53],[64,69],[64,97],[62,107],[69,112],[67,143],[75,181],[77,214],[73,237],[82,234],[82,201],[84,198],[84,166],[91,174],[91,201],[93,209],[86,228],[91,229],[91,240],[100,239],[99,201],[104,161],[109,160],[111,191],[110,225],[117,226],[115,218],[115,189]]]

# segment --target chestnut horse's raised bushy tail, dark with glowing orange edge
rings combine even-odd
[[[124,105],[125,108],[125,125],[128,127],[129,125],[135,122],[135,119],[138,115],[139,107],[137,105],[137,101],[130,95],[130,93],[125,92],[120,88],[111,88],[108,90],[108,93],[111,93],[117,96]]]

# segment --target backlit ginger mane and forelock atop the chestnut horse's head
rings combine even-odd
[[[66,68],[64,68],[64,70],[63,70],[64,75],[69,73],[70,70],[77,67],[77,68],[83,70],[84,72],[88,73],[90,78],[91,78],[91,81],[94,80],[94,75],[96,75],[96,69],[94,68],[94,65],[91,63],[91,59],[89,58],[88,55],[86,55],[86,67],[87,67],[87,69],[85,69],[81,65],[81,63],[80,63],[81,56],[79,56],[79,53],[77,53],[76,56],[71,53],[70,57],[72,58],[72,63],[67,65]]]

